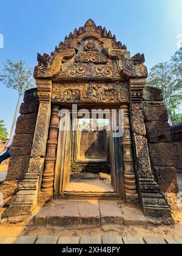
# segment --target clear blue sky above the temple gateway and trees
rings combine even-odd
[[[170,59],[182,34],[182,0],[1,0],[0,12],[0,71],[6,59],[35,66],[37,52],[50,53],[89,18],[116,34],[132,55],[144,53],[149,69]],[[0,119],[10,131],[18,95],[2,84],[0,90]]]

